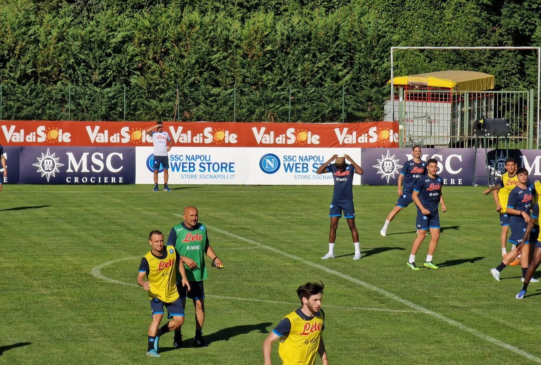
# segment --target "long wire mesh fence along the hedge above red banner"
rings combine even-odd
[[[354,122],[359,104],[343,86],[0,84],[0,120]]]

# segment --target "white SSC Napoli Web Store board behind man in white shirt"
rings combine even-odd
[[[246,184],[246,150],[237,147],[173,147],[169,151],[169,184]],[[153,151],[153,147],[136,148],[136,184],[154,184]],[[160,184],[163,184],[162,172],[160,168]]]

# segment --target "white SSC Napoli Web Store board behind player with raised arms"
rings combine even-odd
[[[360,163],[359,148],[247,148],[249,185],[333,185],[331,173],[316,174],[334,154]],[[362,167],[362,166],[361,166]],[[353,184],[360,184],[355,174]]]

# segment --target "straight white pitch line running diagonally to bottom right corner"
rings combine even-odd
[[[359,280],[359,279],[355,279],[353,278],[352,276],[349,276],[349,275],[346,275],[346,274],[342,274],[341,272],[338,272],[338,271],[335,271],[333,269],[330,269],[326,266],[323,266],[323,265],[319,265],[318,263],[314,263],[314,262],[311,262],[311,261],[308,261],[308,260],[305,260],[299,256],[295,256],[295,255],[292,255],[292,254],[289,254],[287,252],[284,252],[284,251],[280,251],[278,248],[274,248],[272,246],[267,246],[267,245],[263,245],[263,244],[260,244],[259,242],[256,242],[254,240],[250,240],[248,238],[244,238],[244,237],[241,237],[239,235],[236,235],[234,233],[229,233],[227,231],[223,231],[222,229],[220,228],[216,228],[216,227],[211,227],[209,225],[207,225],[207,227],[213,229],[214,231],[216,232],[220,232],[222,234],[225,234],[225,235],[228,235],[230,237],[233,237],[237,240],[242,240],[242,241],[245,241],[245,242],[248,242],[249,244],[252,244],[252,245],[255,245],[257,247],[262,247],[262,248],[266,248],[268,249],[269,251],[272,251],[274,253],[277,253],[279,255],[282,255],[282,256],[286,256],[287,258],[290,258],[292,260],[295,260],[295,261],[300,261],[302,263],[304,263],[305,265],[308,265],[308,266],[312,266],[312,267],[315,267],[315,268],[318,268],[318,269],[321,269],[329,274],[333,274],[333,275],[336,275],[336,276],[339,276],[340,278],[342,279],[345,279],[345,280],[348,280],[348,281],[351,281],[353,283],[356,283],[360,286],[363,286],[367,289],[371,289],[371,290],[374,290],[375,292],[378,292],[380,293],[381,295],[384,295],[386,296],[387,298],[391,298],[399,303],[403,303],[404,305],[410,307],[410,308],[413,308],[413,309],[416,309],[418,310],[419,312],[422,312],[422,313],[426,313],[428,315],[431,315],[433,316],[434,318],[437,318],[439,319],[440,321],[443,321],[445,323],[447,323],[448,325],[451,325],[451,326],[454,326],[454,327],[458,327],[462,330],[464,330],[465,332],[468,332],[468,333],[471,333],[472,335],[474,336],[477,336],[483,340],[486,340],[486,341],[489,341],[493,344],[496,344],[497,346],[500,346],[500,347],[503,347],[504,349],[507,349],[507,350],[510,350],[511,352],[515,353],[515,354],[518,354],[518,355],[521,355],[521,356],[524,356],[526,357],[526,359],[529,359],[529,360],[532,360],[532,361],[535,361],[537,363],[541,363],[541,359],[539,359],[539,357],[537,356],[534,356],[534,355],[531,355],[527,352],[525,352],[524,350],[521,350],[521,349],[518,349],[514,346],[511,346],[510,344],[508,343],[505,343],[505,342],[502,342],[498,339],[495,339],[494,337],[491,337],[491,336],[488,336],[488,335],[485,335],[484,333],[481,333],[479,332],[478,330],[476,329],[473,329],[473,328],[470,328],[470,327],[467,327],[465,325],[463,325],[462,323],[460,322],[457,322],[455,320],[452,320],[450,318],[447,318],[446,316],[444,315],[441,315],[439,313],[436,313],[436,312],[433,312],[432,310],[430,309],[427,309],[427,308],[424,308],[424,307],[421,307],[413,302],[410,302],[406,299],[403,299],[403,298],[400,298],[398,295],[395,295],[393,293],[390,293],[390,292],[387,292],[387,290],[384,290],[384,289],[381,289],[375,285],[372,285],[370,283],[367,283],[366,281],[362,281],[362,280]]]

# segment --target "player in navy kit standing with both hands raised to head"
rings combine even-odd
[[[351,163],[346,164],[346,159]],[[334,160],[334,164],[331,162]],[[346,218],[349,231],[353,238],[353,246],[355,246],[355,254],[353,260],[361,258],[359,248],[359,233],[355,227],[355,207],[353,206],[353,173],[362,175],[362,168],[352,160],[351,157],[344,155],[338,157],[335,154],[326,163],[319,166],[316,174],[332,172],[334,181],[333,200],[329,209],[329,217],[331,217],[331,228],[329,229],[329,252],[321,259],[334,259],[334,241],[337,238],[338,220],[342,217],[342,211]]]

